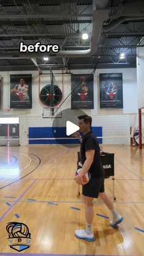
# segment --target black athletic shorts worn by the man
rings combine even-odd
[[[98,198],[99,192],[104,192],[104,177],[91,178],[90,181],[82,186],[82,195]]]

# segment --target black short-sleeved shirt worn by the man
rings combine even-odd
[[[101,163],[98,139],[95,137],[92,131],[88,131],[88,133],[85,134],[84,137],[82,138],[82,143],[81,143],[82,165],[85,162],[85,159],[86,159],[85,152],[87,150],[95,150],[93,163],[89,169],[90,174],[92,175],[93,178],[104,177],[104,170],[103,170],[103,165]]]

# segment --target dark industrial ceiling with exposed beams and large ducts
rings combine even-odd
[[[144,1],[0,0],[0,15],[0,71],[136,67],[144,46]],[[59,52],[20,53],[21,42]]]

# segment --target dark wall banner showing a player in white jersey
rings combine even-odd
[[[10,108],[32,108],[32,75],[10,75]]]

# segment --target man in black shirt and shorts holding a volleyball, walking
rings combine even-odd
[[[112,221],[110,221],[111,227],[117,227],[123,221],[123,217],[117,213],[113,207],[112,200],[107,197],[104,192],[104,170],[101,163],[100,148],[98,140],[90,130],[92,125],[92,117],[89,115],[80,115],[79,130],[84,134],[81,138],[79,132],[74,133],[75,137],[78,137],[81,141],[81,157],[82,157],[82,169],[74,180],[76,183],[82,185],[82,195],[84,196],[85,203],[85,220],[86,228],[84,230],[76,230],[75,235],[79,239],[87,241],[94,241],[93,235],[93,199],[100,197],[101,200],[107,205],[112,213]],[[90,172],[91,178],[87,184],[83,185],[82,176],[87,172]]]

